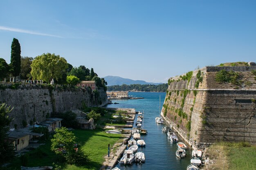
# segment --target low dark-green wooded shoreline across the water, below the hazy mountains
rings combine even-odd
[[[144,91],[144,92],[166,92],[168,88],[168,84],[159,84],[159,85],[153,85],[153,84],[131,84],[126,85],[123,84],[121,86],[115,85],[115,86],[107,86],[108,91]]]

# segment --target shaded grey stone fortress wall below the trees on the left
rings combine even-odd
[[[0,103],[13,107],[11,111],[11,127],[17,124],[22,127],[22,121],[29,122],[35,115],[36,121],[44,121],[53,112],[65,112],[86,106],[103,106],[107,104],[106,92],[99,89],[99,95],[93,97],[91,89],[66,88],[60,86],[53,88],[38,85],[21,85],[18,89],[10,88],[0,90]]]

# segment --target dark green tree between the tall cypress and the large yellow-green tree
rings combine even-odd
[[[21,59],[20,59],[20,76],[22,79],[32,78],[32,76],[30,74],[32,61],[33,61],[33,57],[21,57]]]

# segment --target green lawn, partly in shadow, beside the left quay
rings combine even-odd
[[[108,134],[101,128],[95,130],[72,130],[80,144],[79,149],[83,150],[90,159],[85,166],[61,165],[62,170],[99,170],[104,161],[104,156],[108,154],[108,144],[113,146],[117,141],[122,141],[121,134]],[[31,150],[28,155],[28,167],[32,166],[52,166],[60,159],[50,150],[50,141],[36,150]],[[11,165],[10,170],[20,169],[21,162],[16,157]]]

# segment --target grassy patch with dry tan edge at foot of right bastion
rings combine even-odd
[[[209,170],[256,170],[256,146],[247,143],[221,142],[208,148],[213,160]]]

